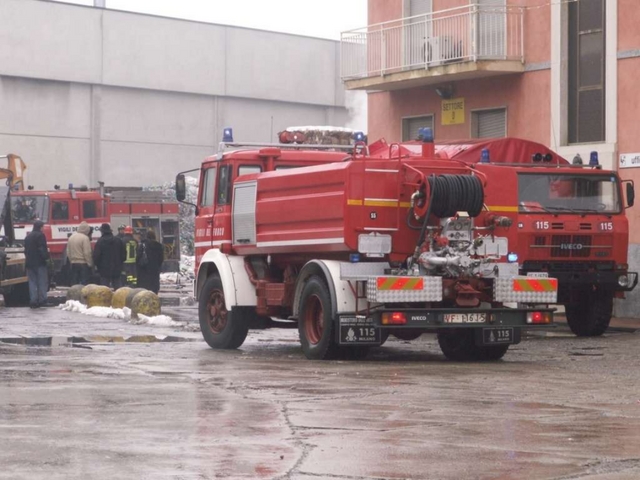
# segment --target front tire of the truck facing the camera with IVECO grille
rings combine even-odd
[[[609,328],[613,314],[613,294],[595,291],[579,304],[565,306],[567,323],[578,337],[599,337]]]

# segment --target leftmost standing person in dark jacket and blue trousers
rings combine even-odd
[[[49,291],[49,248],[47,238],[42,233],[44,223],[37,220],[33,230],[24,240],[24,255],[26,258],[27,277],[29,278],[29,305],[31,308],[42,307],[47,304]]]

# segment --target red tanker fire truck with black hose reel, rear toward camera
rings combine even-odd
[[[196,205],[195,294],[212,348],[297,325],[310,359],[434,332],[450,359],[493,360],[524,328],[552,323],[539,305],[556,302],[557,281],[520,275],[508,261],[511,220],[483,211],[499,179],[438,159],[432,141],[419,157],[374,158],[364,143],[225,136],[202,164]]]

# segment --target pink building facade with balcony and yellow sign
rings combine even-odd
[[[420,126],[436,141],[521,137],[570,160],[597,151],[640,186],[637,0],[369,0],[368,14],[343,34],[342,78],[368,93],[371,141]],[[462,100],[455,120],[447,97]],[[627,215],[637,271],[640,205]],[[640,294],[625,305],[640,316]]]

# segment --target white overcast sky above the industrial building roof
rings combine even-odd
[[[58,0],[93,5],[93,0]],[[106,0],[107,8],[340,39],[367,24],[367,0]]]

